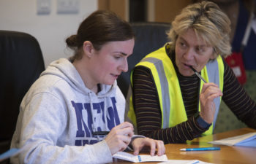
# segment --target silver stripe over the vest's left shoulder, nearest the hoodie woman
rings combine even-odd
[[[153,63],[157,69],[159,75],[161,90],[162,90],[162,128],[169,128],[169,117],[170,117],[170,95],[167,78],[165,76],[165,69],[162,65],[162,60],[157,58],[145,58],[142,61]]]

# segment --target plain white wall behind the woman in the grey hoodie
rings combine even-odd
[[[42,49],[45,66],[68,58],[65,39],[76,34],[80,22],[97,9],[96,0],[80,0],[78,14],[57,14],[57,0],[50,0],[49,15],[37,15],[37,0],[0,0],[0,30],[22,31],[34,36]]]

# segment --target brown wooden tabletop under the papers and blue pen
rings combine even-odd
[[[256,132],[251,128],[242,128],[211,136],[195,138],[187,144],[166,144],[165,153],[169,160],[201,160],[207,163],[256,163],[256,147],[229,147],[224,145],[208,144],[208,141],[239,136],[245,133]],[[181,152],[179,149],[189,147],[221,147],[218,151]],[[113,163],[130,163],[124,160],[113,160]],[[159,163],[159,162],[157,162]],[[146,163],[149,164],[149,163]]]

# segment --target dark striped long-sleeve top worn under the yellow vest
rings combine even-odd
[[[168,51],[167,51],[168,52]],[[170,52],[170,51],[169,51]],[[133,105],[136,114],[138,133],[168,143],[182,143],[200,136],[208,130],[208,123],[197,114],[200,79],[194,74],[184,77],[178,73],[174,52],[168,53],[176,69],[181,87],[188,120],[175,127],[162,129],[162,116],[156,85],[151,71],[144,66],[137,66],[133,72]],[[224,86],[222,100],[239,120],[250,128],[256,128],[256,104],[239,84],[232,69],[224,62]]]

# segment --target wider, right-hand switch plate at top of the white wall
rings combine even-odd
[[[58,14],[78,14],[79,0],[58,0],[57,12]]]

